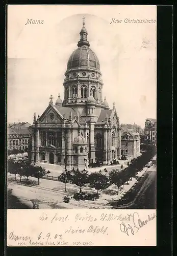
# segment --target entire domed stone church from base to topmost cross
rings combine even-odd
[[[121,154],[120,124],[115,103],[103,100],[99,60],[90,49],[85,23],[78,48],[70,55],[65,72],[64,99],[58,96],[41,116],[34,114],[29,152],[31,164],[50,163],[71,170],[104,165]]]

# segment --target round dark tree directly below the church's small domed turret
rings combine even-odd
[[[80,186],[80,193],[82,193],[82,187],[88,183],[88,172],[80,172],[78,169],[72,173],[70,180],[73,184]]]

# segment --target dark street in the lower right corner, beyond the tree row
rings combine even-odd
[[[119,201],[114,209],[156,209],[156,166],[151,166]]]

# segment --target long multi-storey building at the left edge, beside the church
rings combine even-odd
[[[30,125],[28,122],[19,122],[8,126],[7,150],[28,151],[28,143],[31,137]]]

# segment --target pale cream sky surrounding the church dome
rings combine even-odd
[[[103,98],[120,123],[144,126],[156,118],[157,23],[125,23],[125,18],[156,20],[156,6],[8,6],[8,122],[33,122],[49,97],[63,99],[64,73],[77,49],[82,17],[90,48],[104,82]],[[27,19],[43,20],[29,24]],[[111,23],[112,18],[121,23]]]

